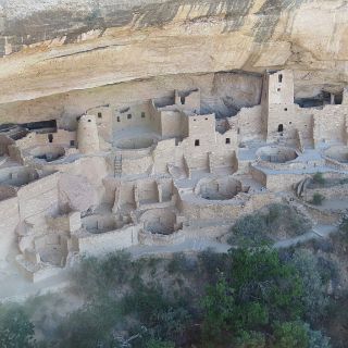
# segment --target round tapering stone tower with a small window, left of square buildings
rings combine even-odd
[[[77,126],[77,147],[80,153],[99,151],[98,127],[94,115],[80,116]]]

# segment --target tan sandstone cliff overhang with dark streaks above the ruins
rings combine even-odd
[[[310,96],[348,83],[348,1],[0,0],[0,103],[279,67]]]

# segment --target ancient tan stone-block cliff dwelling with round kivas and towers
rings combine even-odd
[[[199,89],[90,108],[0,133],[2,264],[38,282],[82,254],[209,236],[321,172],[348,174],[348,90],[295,102],[294,74],[265,72],[260,104],[216,117]],[[319,99],[318,99],[319,100]],[[301,186],[302,187],[302,186]]]

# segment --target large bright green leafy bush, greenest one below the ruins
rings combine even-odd
[[[237,249],[229,256],[232,274],[222,273],[202,300],[204,341],[262,347],[263,333],[275,322],[302,314],[301,279],[275,250]]]

